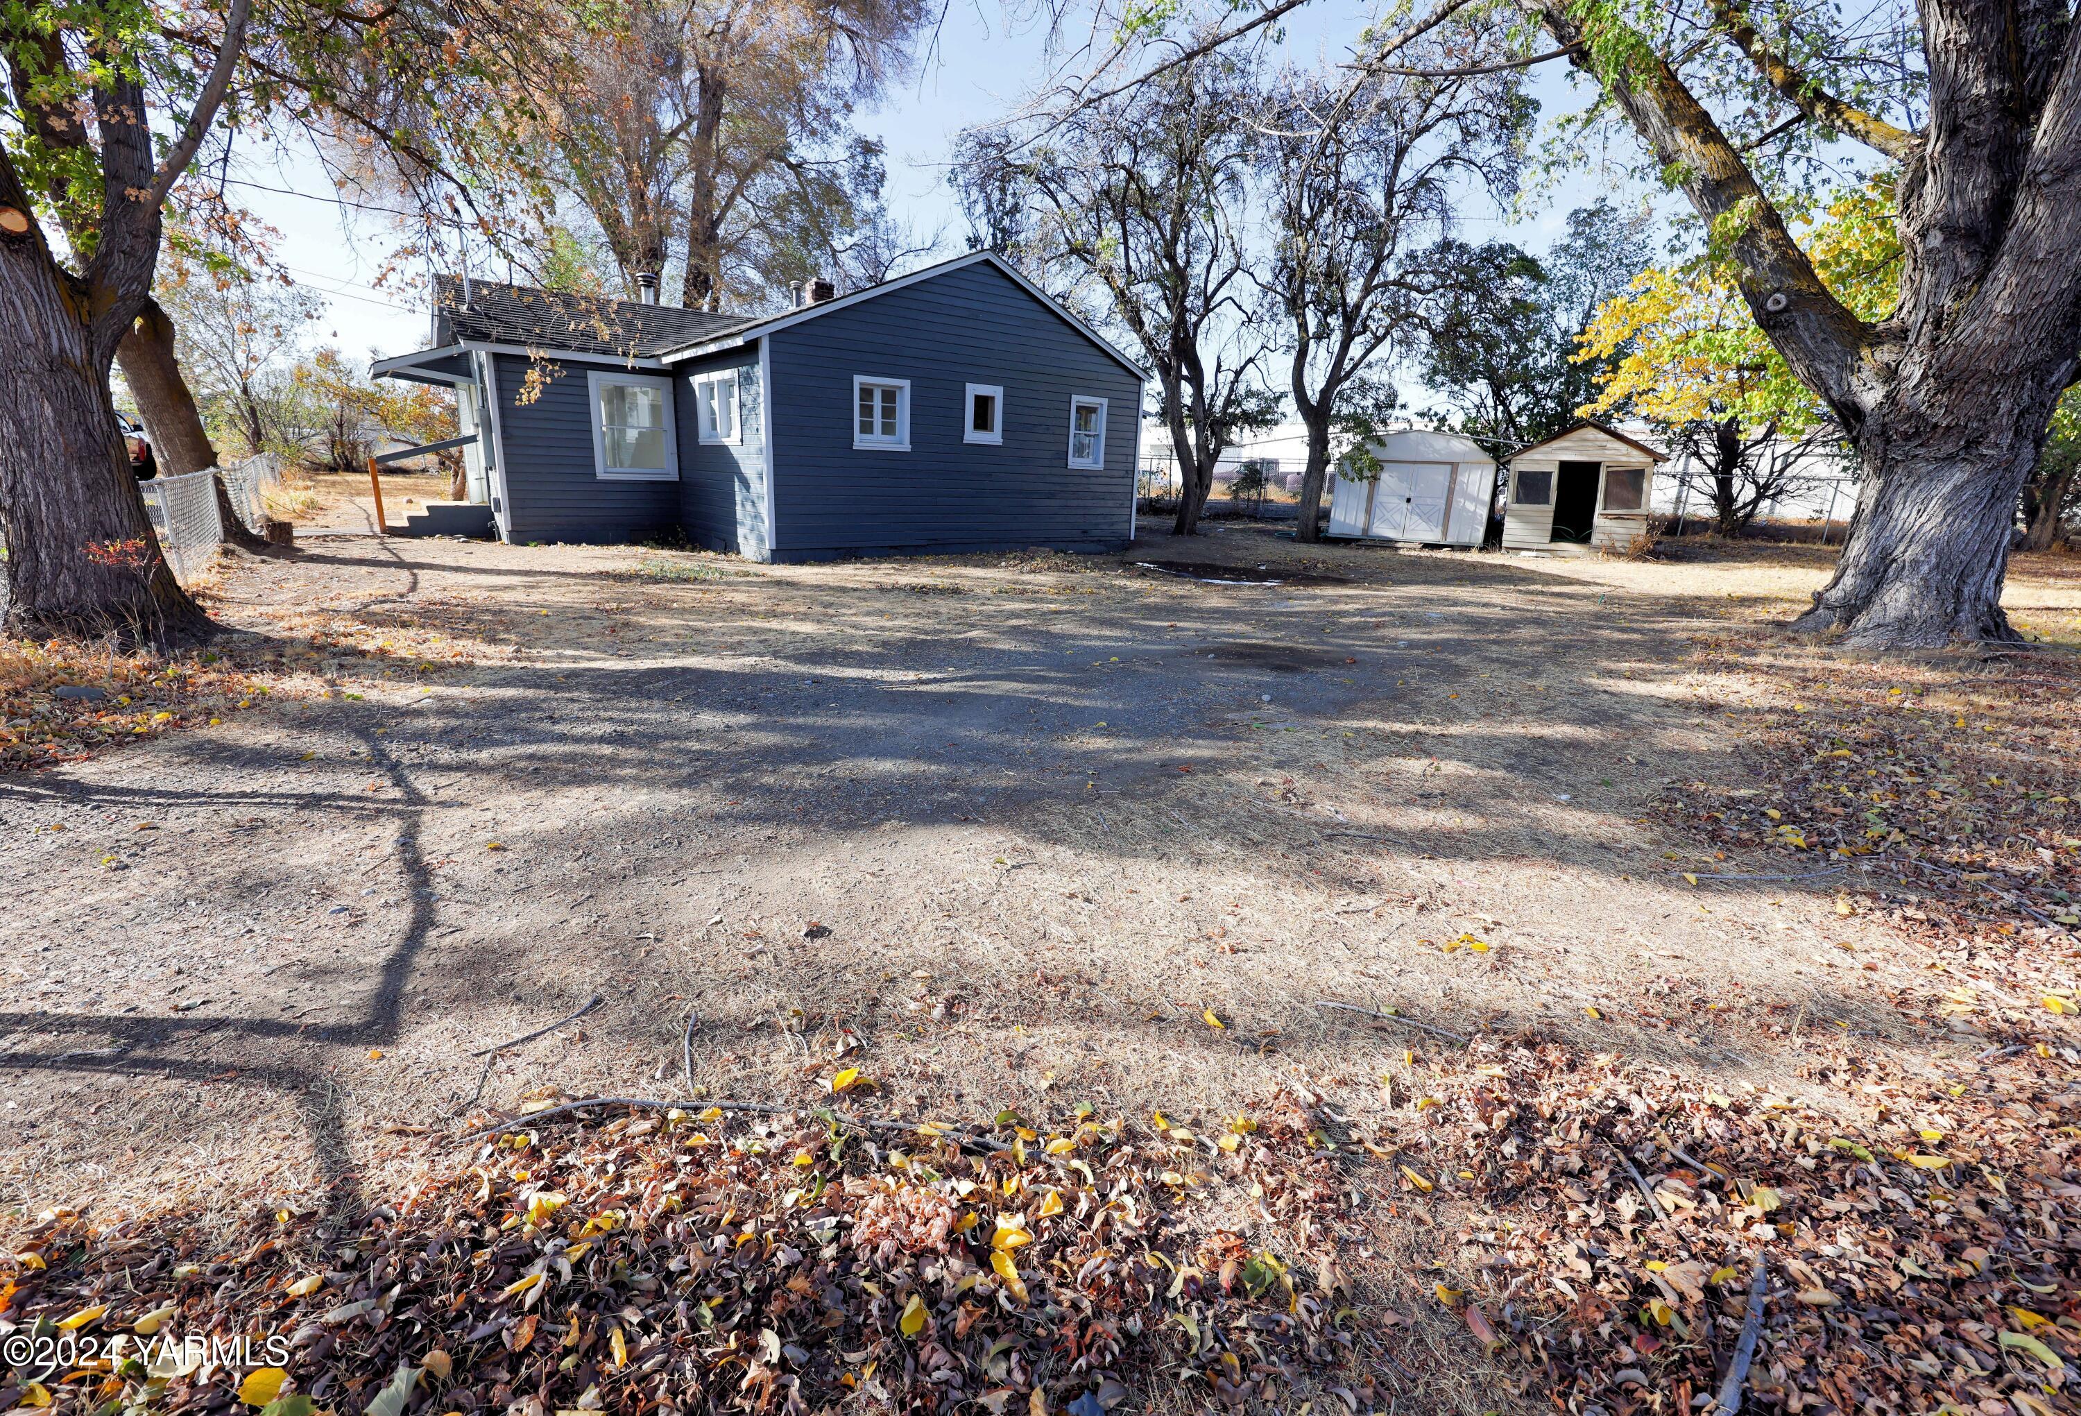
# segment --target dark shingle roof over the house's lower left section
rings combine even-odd
[[[606,296],[570,296],[531,285],[470,281],[462,300],[460,275],[437,275],[433,283],[435,342],[483,339],[524,344],[576,354],[622,354],[653,358],[699,339],[714,339],[751,321],[741,314],[680,310],[670,304],[639,304]]]

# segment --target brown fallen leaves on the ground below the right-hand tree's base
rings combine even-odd
[[[1681,825],[1740,852],[1729,868],[1842,864],[1846,889],[1867,891],[1890,925],[1933,947],[1994,947],[1996,972],[2012,972],[2016,945],[2044,962],[2081,958],[2071,658],[1908,666],[1740,637],[1702,641],[1696,658],[1758,689],[1727,714],[1746,779],[1667,795]]]

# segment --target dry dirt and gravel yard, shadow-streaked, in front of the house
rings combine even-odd
[[[2064,925],[1942,916],[1758,835],[1777,808],[1748,835],[1690,816],[1688,791],[1771,789],[1771,723],[1819,685],[2004,700],[2002,662],[1761,633],[1827,558],[306,537],[210,598],[264,700],[0,777],[4,1202],[387,1193],[464,1114],[674,1093],[689,1012],[703,1097],[814,1104],[851,1066],[876,1114],[949,1122],[1301,1093],[1371,1133],[1465,1070],[1436,1029],[1838,1118],[1869,1120],[1846,1047],[2064,1077],[2075,1020],[2037,1002],[2073,997]],[[2060,673],[2069,564],[2010,585]],[[1276,583],[1226,583],[1251,575]],[[2073,762],[2016,752],[2077,833]],[[1367,1254],[1463,1268],[1467,1212],[1401,1189]]]

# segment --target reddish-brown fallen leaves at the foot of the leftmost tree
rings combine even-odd
[[[114,654],[65,639],[0,639],[0,770],[83,762],[139,737],[229,718],[266,691],[208,650]]]

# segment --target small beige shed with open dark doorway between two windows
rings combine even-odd
[[[1511,500],[1502,512],[1505,550],[1629,546],[1648,529],[1654,496],[1654,448],[1602,423],[1511,454]]]

